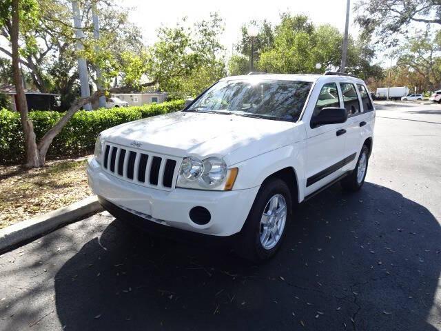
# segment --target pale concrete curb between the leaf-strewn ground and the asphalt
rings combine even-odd
[[[0,253],[47,234],[81,217],[103,210],[96,195],[0,230]]]

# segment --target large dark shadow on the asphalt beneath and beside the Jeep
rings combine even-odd
[[[259,266],[116,220],[54,277],[57,314],[65,330],[435,330],[440,239],[426,208],[372,183],[301,205]]]

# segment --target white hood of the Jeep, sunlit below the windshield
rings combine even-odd
[[[297,123],[254,119],[228,114],[174,112],[130,123],[102,132],[103,138],[122,146],[176,157],[225,157],[237,150],[236,161],[249,159],[289,143],[288,130]],[[228,163],[228,162],[227,162]]]

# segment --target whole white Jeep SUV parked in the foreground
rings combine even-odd
[[[262,261],[278,250],[293,205],[337,181],[361,188],[374,121],[360,79],[227,77],[181,112],[101,132],[89,184],[123,221],[238,239],[243,256]]]

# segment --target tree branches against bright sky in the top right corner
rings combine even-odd
[[[362,37],[376,34],[376,41],[387,46],[398,42],[398,34],[409,32],[411,23],[441,25],[439,0],[359,0],[354,10]]]

